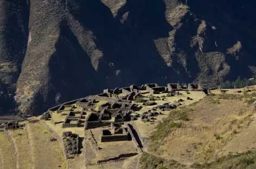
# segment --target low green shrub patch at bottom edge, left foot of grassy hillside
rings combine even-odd
[[[139,165],[141,169],[172,169],[187,168],[185,165],[177,163],[175,160],[165,160],[149,153],[143,153],[140,157]]]

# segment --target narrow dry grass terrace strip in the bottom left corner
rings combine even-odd
[[[11,144],[4,133],[0,133],[1,168],[16,168],[16,160]]]

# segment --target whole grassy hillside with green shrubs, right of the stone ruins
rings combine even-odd
[[[251,105],[256,94],[248,92],[254,88],[228,89],[226,94],[212,90],[210,96],[171,111],[151,134],[151,153],[142,155],[142,167],[254,168]]]

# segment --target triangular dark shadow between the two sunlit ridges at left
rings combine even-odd
[[[100,79],[95,74],[89,56],[66,22],[60,24],[60,30],[59,40],[55,45],[56,52],[49,61],[51,88],[55,89],[55,94],[60,94],[58,102],[96,94],[100,90],[97,89]],[[49,98],[55,98],[50,95]],[[52,106],[55,106],[53,103]]]

